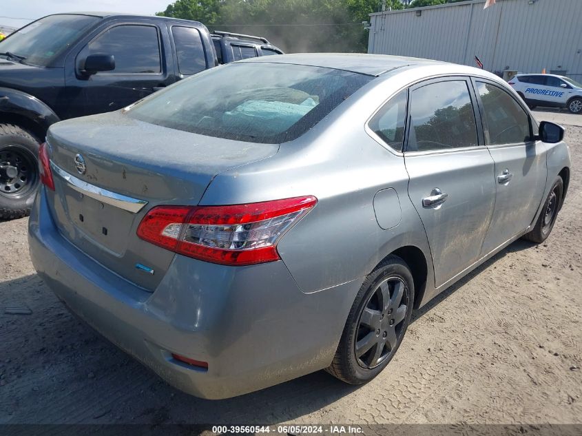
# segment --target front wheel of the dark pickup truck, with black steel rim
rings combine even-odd
[[[39,143],[26,130],[0,124],[0,219],[30,213],[39,187]]]

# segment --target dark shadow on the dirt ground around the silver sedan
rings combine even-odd
[[[507,253],[532,246],[519,240],[503,249],[415,311],[413,322]],[[318,371],[240,397],[191,397],[70,315],[38,276],[0,282],[0,302],[16,300],[28,304],[32,314],[8,315],[6,304],[0,307],[0,374],[5,383],[0,388],[0,416],[5,418],[0,423],[278,424],[362,387]]]

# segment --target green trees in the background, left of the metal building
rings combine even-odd
[[[177,0],[158,14],[267,37],[286,52],[366,52],[362,21],[381,5],[382,0]],[[404,5],[386,0],[386,8]]]

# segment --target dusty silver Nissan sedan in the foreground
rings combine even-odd
[[[371,380],[414,309],[548,238],[570,180],[563,129],[497,76],[377,55],[214,68],[52,125],[40,160],[39,276],[215,399],[324,368]]]

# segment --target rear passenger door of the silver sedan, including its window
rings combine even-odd
[[[495,205],[495,163],[466,77],[410,89],[404,162],[441,287],[479,260]]]

